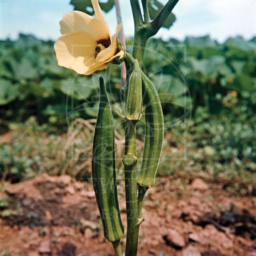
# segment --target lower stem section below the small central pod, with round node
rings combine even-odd
[[[138,202],[136,184],[136,122],[126,121],[125,129],[125,151],[123,156],[124,175],[125,175],[125,196],[127,212],[127,237],[126,237],[126,256],[136,256],[139,224],[138,224]]]

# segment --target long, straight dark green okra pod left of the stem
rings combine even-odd
[[[110,242],[120,240],[124,234],[117,199],[114,136],[113,116],[101,76],[100,106],[93,137],[92,180],[104,236]]]

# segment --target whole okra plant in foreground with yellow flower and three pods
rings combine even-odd
[[[60,21],[60,32],[54,45],[60,66],[82,75],[103,70],[108,64],[122,63],[126,73],[125,108],[120,115],[125,120],[125,147],[122,156],[125,176],[127,237],[126,256],[136,256],[144,195],[155,186],[164,137],[164,119],[159,96],[146,71],[142,71],[147,41],[166,27],[178,0],[168,0],[163,6],[157,0],[130,0],[135,25],[132,54],[124,47],[124,37],[117,39],[122,25],[112,36],[98,0],[91,0],[95,17],[80,11],[68,12]],[[120,8],[115,0],[118,20]],[[152,4],[159,9],[152,12]],[[161,8],[160,8],[161,7]],[[126,68],[126,69],[124,69]],[[125,72],[127,70],[127,72]],[[105,238],[112,242],[116,255],[122,255],[120,239],[124,228],[120,217],[115,166],[115,128],[104,77],[100,77],[100,106],[92,146],[92,178],[96,202]],[[145,116],[145,139],[142,164],[137,170],[136,124]]]

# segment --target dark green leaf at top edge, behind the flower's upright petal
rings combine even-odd
[[[71,0],[70,4],[74,5],[74,10],[76,11],[85,12],[88,15],[94,14],[91,0]],[[115,1],[114,0],[108,0],[107,2],[99,1],[99,4],[100,4],[101,10],[103,10],[104,12],[109,12],[113,8]]]

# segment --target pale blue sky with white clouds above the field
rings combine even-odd
[[[167,0],[160,0],[163,4]],[[70,0],[0,0],[0,39],[16,39],[20,32],[41,39],[60,36],[59,20],[72,10]],[[126,36],[133,34],[129,0],[120,0]],[[177,21],[170,30],[161,29],[157,37],[168,39],[209,34],[220,42],[229,36],[250,39],[256,35],[256,0],[180,0],[174,9]],[[115,31],[115,10],[106,14]]]

